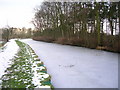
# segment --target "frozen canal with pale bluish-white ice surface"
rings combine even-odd
[[[44,62],[55,88],[118,88],[118,54],[22,40]]]

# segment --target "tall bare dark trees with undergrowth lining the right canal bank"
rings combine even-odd
[[[119,52],[119,11],[120,2],[43,2],[33,39]]]

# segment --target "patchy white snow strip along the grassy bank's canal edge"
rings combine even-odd
[[[30,55],[29,61],[32,64],[31,69],[33,72],[32,83],[36,86],[35,88],[49,88],[49,90],[51,90],[50,85],[42,85],[41,83],[41,81],[50,78],[50,75],[48,75],[47,73],[40,72],[42,70],[43,71],[46,70],[46,68],[44,66],[37,66],[37,64],[42,64],[42,62],[40,61],[39,58],[37,58],[38,56],[35,53],[33,53],[32,48],[30,48],[27,44],[25,45],[25,48],[26,53]]]

